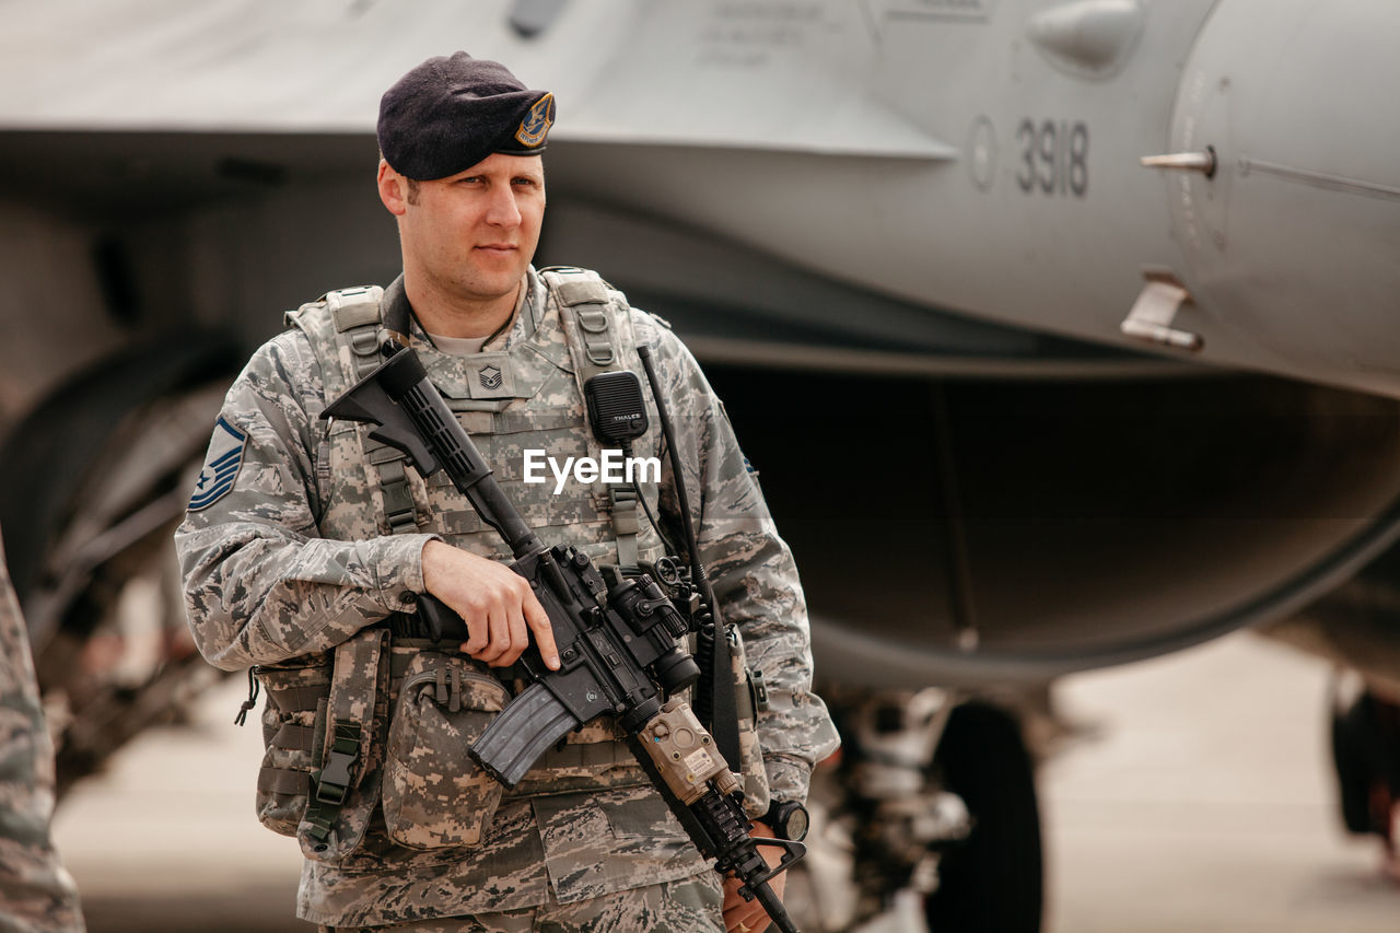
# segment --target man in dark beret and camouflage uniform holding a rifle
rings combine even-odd
[[[514,664],[532,642],[557,667],[557,650],[529,586],[507,566],[510,552],[441,474],[424,482],[363,426],[319,419],[378,364],[385,342],[419,353],[543,544],[575,545],[598,565],[678,552],[659,534],[679,527],[669,461],[659,482],[641,483],[666,525],[657,531],[619,520],[626,496],[598,485],[531,485],[524,451],[561,459],[595,450],[580,347],[640,371],[637,346],[650,346],[678,426],[700,556],[767,686],[752,730],[762,759],[746,744],[750,815],[770,800],[804,800],[813,763],[837,744],[811,693],[792,558],[694,359],[592,273],[529,265],[553,119],[550,94],[465,53],[424,62],[385,94],[378,188],[398,219],[403,276],[382,293],[330,293],[288,315],[295,326],[230,391],[176,535],[196,643],[221,668],[258,665],[270,692],[259,814],[301,841],[298,916],[323,930],[766,925],[736,883],[721,890],[615,724],[575,730],[504,797],[470,775],[465,717],[489,720],[501,700],[482,672]],[[638,457],[659,452],[658,433],[637,441]],[[398,630],[381,635],[414,612],[419,594],[463,618],[461,653],[444,658]],[[354,693],[377,675],[386,688]],[[442,752],[452,761],[426,763],[437,754],[427,747],[448,733],[458,735]],[[307,749],[319,768],[309,782]],[[336,755],[349,763],[333,765]],[[316,803],[328,780],[333,806]],[[448,813],[428,815],[434,803]],[[767,829],[759,822],[755,834]],[[773,884],[781,892],[781,876]]]

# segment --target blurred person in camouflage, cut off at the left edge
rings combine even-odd
[[[81,932],[77,888],[49,841],[53,745],[29,636],[0,548],[0,932]]]

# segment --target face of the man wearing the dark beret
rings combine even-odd
[[[543,160],[494,153],[465,172],[413,189],[403,184],[396,200],[385,196],[385,206],[399,214],[405,270],[469,303],[514,296],[545,219]]]

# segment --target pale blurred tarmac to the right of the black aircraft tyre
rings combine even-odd
[[[1400,885],[1336,803],[1324,661],[1236,633],[1065,678],[1098,740],[1040,773],[1047,933],[1382,933]]]

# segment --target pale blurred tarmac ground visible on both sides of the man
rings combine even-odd
[[[1394,933],[1400,885],[1347,836],[1326,663],[1253,635],[1056,686],[1082,737],[1042,768],[1046,933]],[[202,698],[71,793],[55,836],[92,933],[305,933],[301,856],[252,814],[246,689]]]

